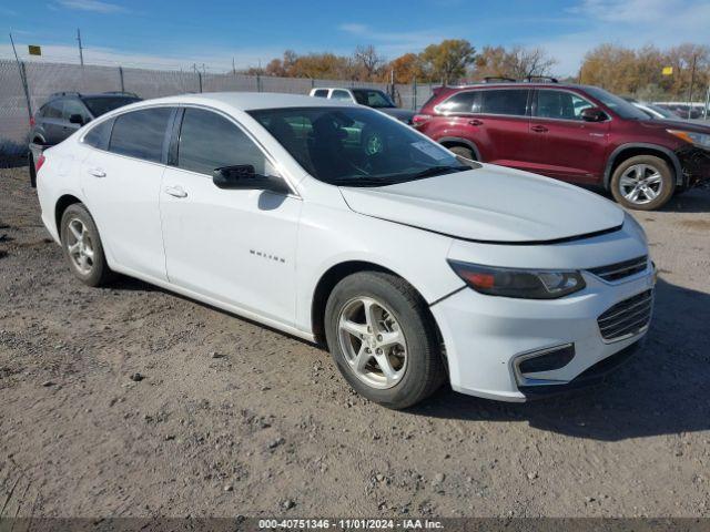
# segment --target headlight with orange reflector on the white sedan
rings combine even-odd
[[[586,286],[579,272],[497,268],[458,260],[448,264],[474,290],[489,296],[556,299]]]

